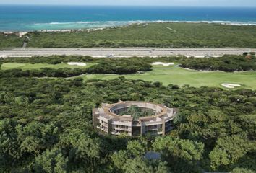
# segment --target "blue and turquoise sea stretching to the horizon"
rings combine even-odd
[[[0,5],[0,31],[83,29],[155,21],[256,25],[256,8]]]

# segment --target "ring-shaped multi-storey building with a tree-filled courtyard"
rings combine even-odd
[[[154,110],[156,115],[137,119],[131,115],[118,115],[132,105]],[[164,136],[172,129],[172,120],[176,112],[175,108],[150,102],[119,101],[116,104],[102,104],[102,107],[93,109],[93,125],[103,133],[113,135],[125,133],[127,136],[137,136],[153,133]]]

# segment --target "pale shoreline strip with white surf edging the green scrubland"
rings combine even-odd
[[[231,25],[231,26],[256,26],[256,21],[249,22],[239,22],[239,21],[179,21],[179,20],[135,20],[135,21],[92,21],[94,23],[116,23],[117,25],[109,25],[105,27],[82,27],[82,28],[65,28],[65,29],[53,29],[53,30],[0,30],[0,35],[8,35],[19,32],[91,32],[96,30],[105,30],[105,29],[115,29],[118,27],[129,27],[130,25],[148,25],[149,23],[189,23],[189,24],[217,24],[217,25]],[[90,22],[49,22],[33,25],[69,25],[69,24],[81,24],[81,23],[90,23]],[[118,25],[123,23],[122,25]]]

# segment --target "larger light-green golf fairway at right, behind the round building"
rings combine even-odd
[[[153,71],[145,74],[116,75],[116,74],[88,74],[82,76],[83,79],[115,79],[124,76],[128,79],[142,79],[145,81],[161,81],[163,85],[177,84],[182,86],[218,86],[221,84],[241,84],[243,88],[256,89],[256,71],[226,73],[221,71],[194,71],[173,67],[154,66]],[[239,87],[237,87],[239,88]]]

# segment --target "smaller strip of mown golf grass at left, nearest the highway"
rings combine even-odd
[[[49,64],[49,63],[3,63],[1,70],[9,70],[14,68],[20,68],[22,70],[35,70],[40,68],[88,68],[93,66],[93,63],[86,63],[87,66],[70,66],[67,63]]]

